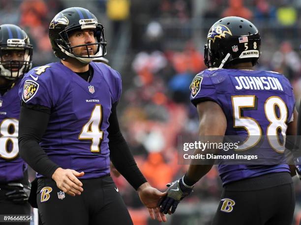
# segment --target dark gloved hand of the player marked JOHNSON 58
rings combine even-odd
[[[167,195],[160,200],[160,212],[164,214],[171,214],[176,211],[179,202],[190,195],[193,186],[187,186],[183,184],[182,178],[172,183],[167,184],[168,189],[166,190]]]

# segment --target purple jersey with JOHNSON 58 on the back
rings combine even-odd
[[[227,119],[225,135],[251,137],[245,142],[249,148],[260,143],[260,165],[218,166],[223,185],[268,173],[290,172],[285,160],[277,165],[265,165],[265,161],[284,158],[285,147],[275,137],[285,136],[287,124],[293,119],[295,98],[284,75],[212,68],[196,75],[190,89],[194,105],[204,100],[220,105]],[[260,142],[262,136],[265,139]]]

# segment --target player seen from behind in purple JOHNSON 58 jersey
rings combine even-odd
[[[246,19],[225,17],[212,25],[205,45],[205,64],[210,69],[196,75],[190,85],[201,142],[213,136],[247,136],[247,146],[252,148],[263,135],[268,139],[296,135],[297,111],[290,82],[278,73],[253,70],[260,45],[257,28]],[[265,139],[261,157],[267,161],[278,157],[284,145],[285,141],[281,145]],[[186,174],[169,185],[160,202],[161,212],[174,213],[211,167],[191,163]],[[292,224],[295,193],[287,164],[219,165],[218,171],[223,192],[213,225]]]

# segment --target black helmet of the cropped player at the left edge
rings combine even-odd
[[[22,51],[22,60],[7,57],[10,51]],[[31,69],[32,45],[26,32],[12,24],[0,25],[0,76],[12,81]]]

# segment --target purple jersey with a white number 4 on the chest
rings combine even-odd
[[[108,119],[121,95],[118,72],[103,63],[90,65],[90,83],[57,62],[32,69],[19,90],[26,103],[51,108],[40,146],[63,169],[85,172],[82,178],[110,173]]]

